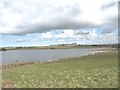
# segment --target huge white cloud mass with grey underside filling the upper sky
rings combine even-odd
[[[93,3],[96,0],[1,0],[0,33],[20,35],[103,24],[115,23],[115,26],[117,7],[114,3],[110,0]]]

